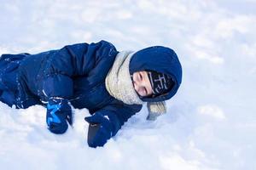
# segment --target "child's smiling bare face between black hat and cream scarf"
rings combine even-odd
[[[153,94],[147,71],[137,71],[132,74],[133,87],[140,96]]]

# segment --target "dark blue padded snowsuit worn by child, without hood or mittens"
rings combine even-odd
[[[105,77],[118,53],[113,44],[101,41],[39,54],[3,54],[0,100],[25,109],[44,105],[50,97],[68,99],[74,108],[87,108],[90,114],[113,115],[114,135],[142,109],[142,105],[126,105],[108,94]]]

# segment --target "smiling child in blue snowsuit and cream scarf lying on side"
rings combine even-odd
[[[148,102],[148,119],[166,112],[164,101],[177,93],[182,67],[177,54],[161,46],[119,52],[106,41],[78,43],[40,54],[3,54],[0,100],[17,109],[47,108],[52,133],[72,125],[72,109],[91,116],[88,144],[103,146]]]

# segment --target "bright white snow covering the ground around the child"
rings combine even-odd
[[[86,109],[55,135],[44,107],[0,103],[1,169],[256,169],[256,1],[3,0],[0,54],[76,42],[176,50],[183,84],[155,122],[133,116],[103,148],[86,144]]]

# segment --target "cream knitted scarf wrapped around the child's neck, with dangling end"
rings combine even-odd
[[[117,54],[113,66],[108,71],[105,79],[108,93],[115,99],[123,101],[127,105],[143,105],[143,100],[139,98],[133,84],[129,71],[129,64],[135,52],[122,51]],[[166,113],[166,102],[148,102],[148,120],[155,120],[157,116]]]

